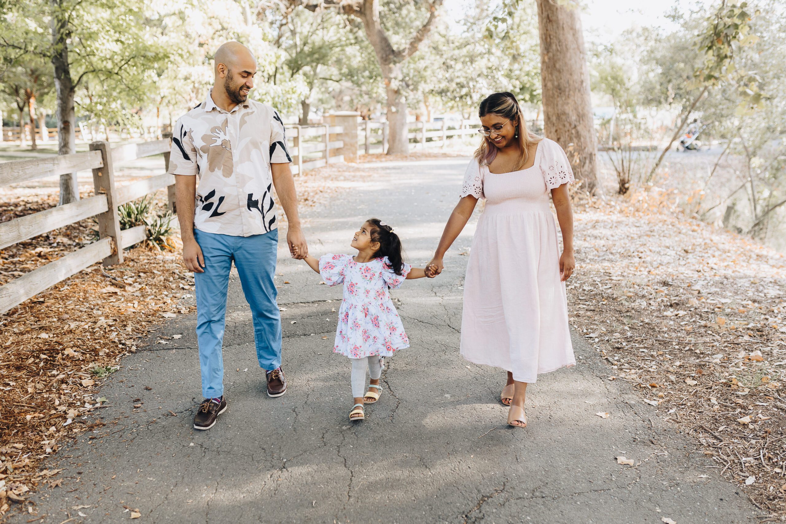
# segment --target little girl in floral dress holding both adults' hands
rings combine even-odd
[[[430,275],[426,269],[402,261],[399,236],[377,218],[365,221],[350,245],[358,255],[325,255],[319,259],[308,255],[303,260],[325,279],[325,284],[344,284],[333,352],[352,361],[354,405],[349,418],[363,420],[363,405],[373,404],[382,393],[383,358],[410,347],[387,290],[399,288],[404,280]],[[371,380],[364,395],[365,368],[369,368]]]

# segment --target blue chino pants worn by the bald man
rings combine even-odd
[[[216,398],[224,394],[222,343],[232,262],[251,306],[259,366],[270,371],[281,365],[281,313],[273,282],[278,230],[262,235],[231,236],[194,229],[194,236],[205,264],[204,273],[194,273],[202,396]]]

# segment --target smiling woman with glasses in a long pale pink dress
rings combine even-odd
[[[524,427],[527,384],[575,365],[564,284],[575,267],[567,194],[573,172],[560,145],[527,130],[512,93],[487,97],[479,116],[483,142],[429,266],[442,271],[445,252],[485,198],[467,264],[461,355],[508,372],[501,401],[510,406],[508,423]]]

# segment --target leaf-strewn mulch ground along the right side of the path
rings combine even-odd
[[[786,519],[786,257],[677,196],[578,199],[572,327],[770,520]],[[614,416],[614,413],[611,414]]]

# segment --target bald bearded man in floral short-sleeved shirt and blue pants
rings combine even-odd
[[[290,254],[305,258],[308,247],[300,230],[284,123],[274,108],[248,99],[255,74],[256,60],[246,46],[226,42],[219,47],[211,92],[178,119],[172,137],[169,172],[177,189],[183,262],[196,283],[204,397],[194,416],[198,430],[213,427],[226,410],[222,343],[233,262],[251,305],[267,394],[281,397],[287,390],[273,281],[278,244],[274,188],[287,215]]]

